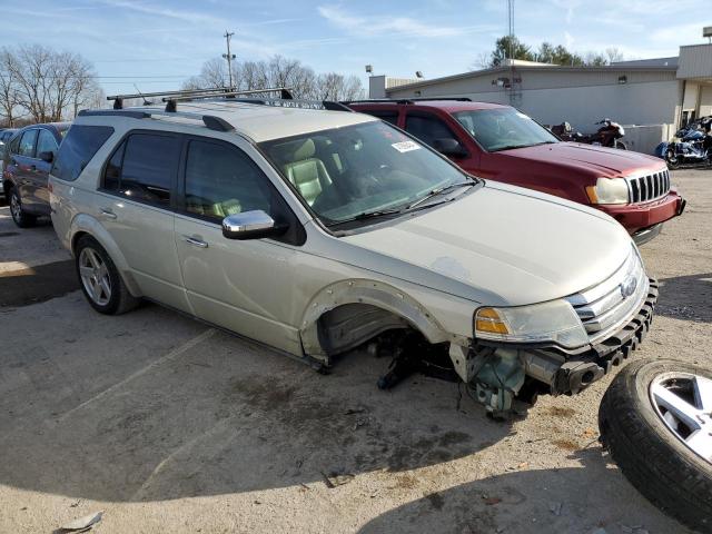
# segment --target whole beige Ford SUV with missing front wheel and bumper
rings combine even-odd
[[[154,300],[315,367],[366,344],[399,374],[439,358],[496,416],[643,339],[656,284],[609,216],[369,116],[265,103],[80,113],[51,211],[96,310]]]

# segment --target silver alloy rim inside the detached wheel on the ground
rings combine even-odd
[[[650,399],[668,429],[712,464],[712,380],[690,373],[664,373],[651,383]]]

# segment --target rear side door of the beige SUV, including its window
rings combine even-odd
[[[105,166],[92,215],[121,250],[142,295],[189,312],[174,240],[181,148],[178,134],[130,132]]]

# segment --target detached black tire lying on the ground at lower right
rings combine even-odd
[[[705,461],[666,425],[661,414],[665,412],[668,417],[673,411],[661,409],[660,399],[655,400],[655,396],[651,393],[651,387],[652,392],[660,392],[662,384],[666,384],[664,387],[669,393],[672,389],[682,392],[686,375],[712,380],[712,370],[682,362],[641,360],[626,366],[603,396],[599,426],[604,447],[637,491],[681,523],[710,533],[712,457],[708,456]],[[712,382],[704,384],[710,386],[705,398],[712,397]],[[693,407],[674,393],[670,395],[685,407]],[[705,421],[700,419],[698,424],[701,428],[698,437],[703,438],[705,446],[705,435],[712,429],[710,403],[712,398],[704,404]],[[685,434],[680,428],[678,426],[679,432]]]

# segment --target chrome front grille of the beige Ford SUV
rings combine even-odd
[[[623,295],[623,286],[635,280],[635,289]],[[566,297],[583,323],[589,340],[599,343],[623,327],[643,305],[649,279],[637,253],[631,251],[625,263],[607,280],[585,291]]]

